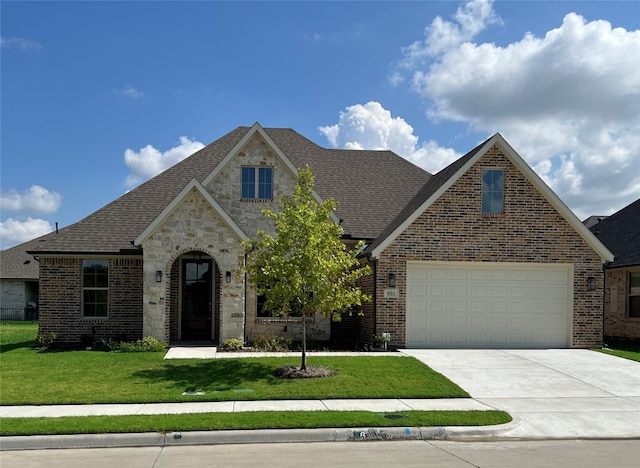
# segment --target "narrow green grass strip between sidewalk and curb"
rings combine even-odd
[[[392,415],[391,418],[385,417]],[[397,415],[395,418],[393,415]],[[403,416],[399,418],[398,416]],[[85,416],[3,419],[0,435],[95,434],[124,432],[186,432],[239,429],[319,427],[430,427],[504,424],[502,411],[269,411],[151,416]]]

